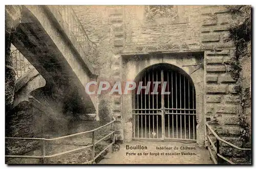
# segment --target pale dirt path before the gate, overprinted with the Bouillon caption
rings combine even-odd
[[[127,150],[126,147],[144,147],[144,150]],[[147,149],[145,150],[145,147]],[[157,150],[162,147],[163,150]],[[189,147],[193,150],[181,150]],[[171,150],[166,150],[171,149]],[[176,149],[175,149],[176,148]],[[178,148],[178,150],[177,150]],[[164,150],[165,149],[165,150]],[[161,154],[162,153],[162,154]],[[169,153],[169,154],[168,154]],[[184,155],[185,153],[185,155]],[[108,153],[98,164],[212,164],[208,150],[196,144],[180,142],[139,142],[124,143],[118,152]]]

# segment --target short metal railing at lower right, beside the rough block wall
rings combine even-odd
[[[233,161],[227,159],[226,157],[224,157],[223,155],[221,155],[220,153],[220,142],[229,145],[230,147],[237,149],[237,150],[242,150],[242,151],[251,151],[251,149],[249,148],[240,148],[236,145],[233,145],[229,142],[227,142],[226,140],[220,138],[218,136],[218,134],[211,128],[211,126],[209,125],[210,122],[214,122],[217,119],[211,120],[209,122],[206,122],[206,148],[208,148],[209,152],[210,152],[210,156],[211,159],[214,161],[215,164],[222,164],[224,161],[230,163],[230,164],[236,164]],[[210,132],[211,134],[216,138],[216,141],[212,140],[210,137]],[[215,146],[216,144],[216,146]],[[214,152],[212,151],[212,149],[214,150]],[[215,156],[217,158],[215,158]],[[250,157],[249,157],[250,158]],[[223,161],[224,160],[224,161]]]

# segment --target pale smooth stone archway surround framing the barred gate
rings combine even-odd
[[[198,58],[202,57],[202,53],[198,55]],[[195,61],[195,64],[188,65],[186,59],[183,57],[177,57],[175,55],[161,55],[161,57],[147,56],[144,59],[138,60],[123,60],[123,81],[136,81],[136,78],[140,76],[142,72],[151,66],[157,64],[164,64],[170,68],[175,68],[175,70],[182,72],[186,75],[191,82],[193,82],[195,87],[195,100],[196,100],[196,142],[199,146],[204,145],[204,135],[205,135],[205,115],[204,115],[204,70],[201,65],[201,59],[196,57],[189,57],[189,61]],[[198,62],[200,61],[200,62]],[[191,63],[191,62],[190,62]],[[123,95],[122,96],[122,117],[125,123],[134,123],[132,116],[133,107],[133,95]],[[125,103],[125,104],[124,104]],[[134,132],[134,128],[126,129],[124,127],[124,140],[129,142],[131,140],[131,135]],[[127,138],[127,136],[130,136]]]

